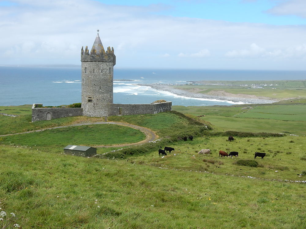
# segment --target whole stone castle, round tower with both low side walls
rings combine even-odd
[[[116,56],[114,48],[105,51],[99,33],[91,51],[81,49],[81,108],[38,108],[33,104],[32,122],[69,116],[107,117],[110,115],[156,114],[171,111],[172,102],[151,104],[114,104],[113,79]]]

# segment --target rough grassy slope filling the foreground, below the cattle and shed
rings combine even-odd
[[[157,167],[175,157],[198,160],[172,153],[151,166],[0,146],[0,207],[22,228],[306,227],[305,184]]]

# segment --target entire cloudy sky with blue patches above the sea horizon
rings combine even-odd
[[[0,65],[80,65],[98,29],[117,68],[306,70],[306,0],[0,0]]]

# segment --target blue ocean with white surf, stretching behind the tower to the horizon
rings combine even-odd
[[[306,71],[235,71],[114,68],[114,103],[143,104],[164,99],[172,105],[233,105],[239,102],[190,98],[142,84],[185,84],[196,80],[305,79]],[[127,79],[132,81],[116,81]],[[140,84],[140,85],[137,85]],[[58,106],[81,102],[80,67],[0,66],[0,106],[42,103]]]

